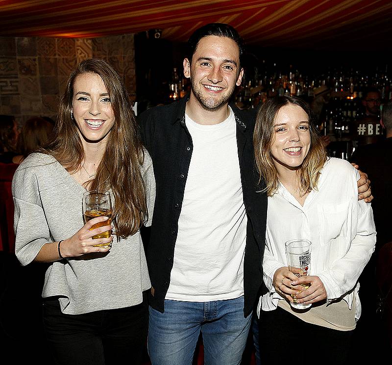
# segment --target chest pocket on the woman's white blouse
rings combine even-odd
[[[319,204],[317,207],[319,214],[319,235],[321,246],[327,245],[331,240],[339,235],[345,236],[345,222],[348,214],[348,204],[337,205]]]

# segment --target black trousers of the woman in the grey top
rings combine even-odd
[[[44,300],[45,333],[59,365],[141,364],[147,343],[147,298],[120,309],[64,314],[57,298]]]

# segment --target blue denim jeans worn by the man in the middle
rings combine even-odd
[[[239,365],[252,315],[244,297],[212,302],[165,300],[165,312],[149,308],[148,354],[152,365],[191,365],[200,331],[204,364]]]

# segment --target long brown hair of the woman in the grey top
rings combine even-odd
[[[61,97],[53,138],[41,152],[57,159],[70,172],[80,170],[84,150],[75,121],[72,119],[73,84],[82,74],[99,75],[109,93],[115,122],[110,130],[106,151],[89,189],[112,190],[115,197],[113,220],[119,237],[135,234],[147,218],[145,184],[141,166],[144,150],[129,95],[113,67],[101,59],[79,63],[68,79]]]

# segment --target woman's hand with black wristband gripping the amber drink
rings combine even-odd
[[[64,239],[60,245],[61,255],[66,257],[79,257],[93,252],[107,252],[112,247],[113,236],[109,238],[91,238],[94,235],[111,231],[113,226],[102,226],[90,231],[90,228],[99,222],[104,222],[108,217],[97,217],[88,221],[72,237]],[[94,247],[94,245],[105,244],[104,246]]]

